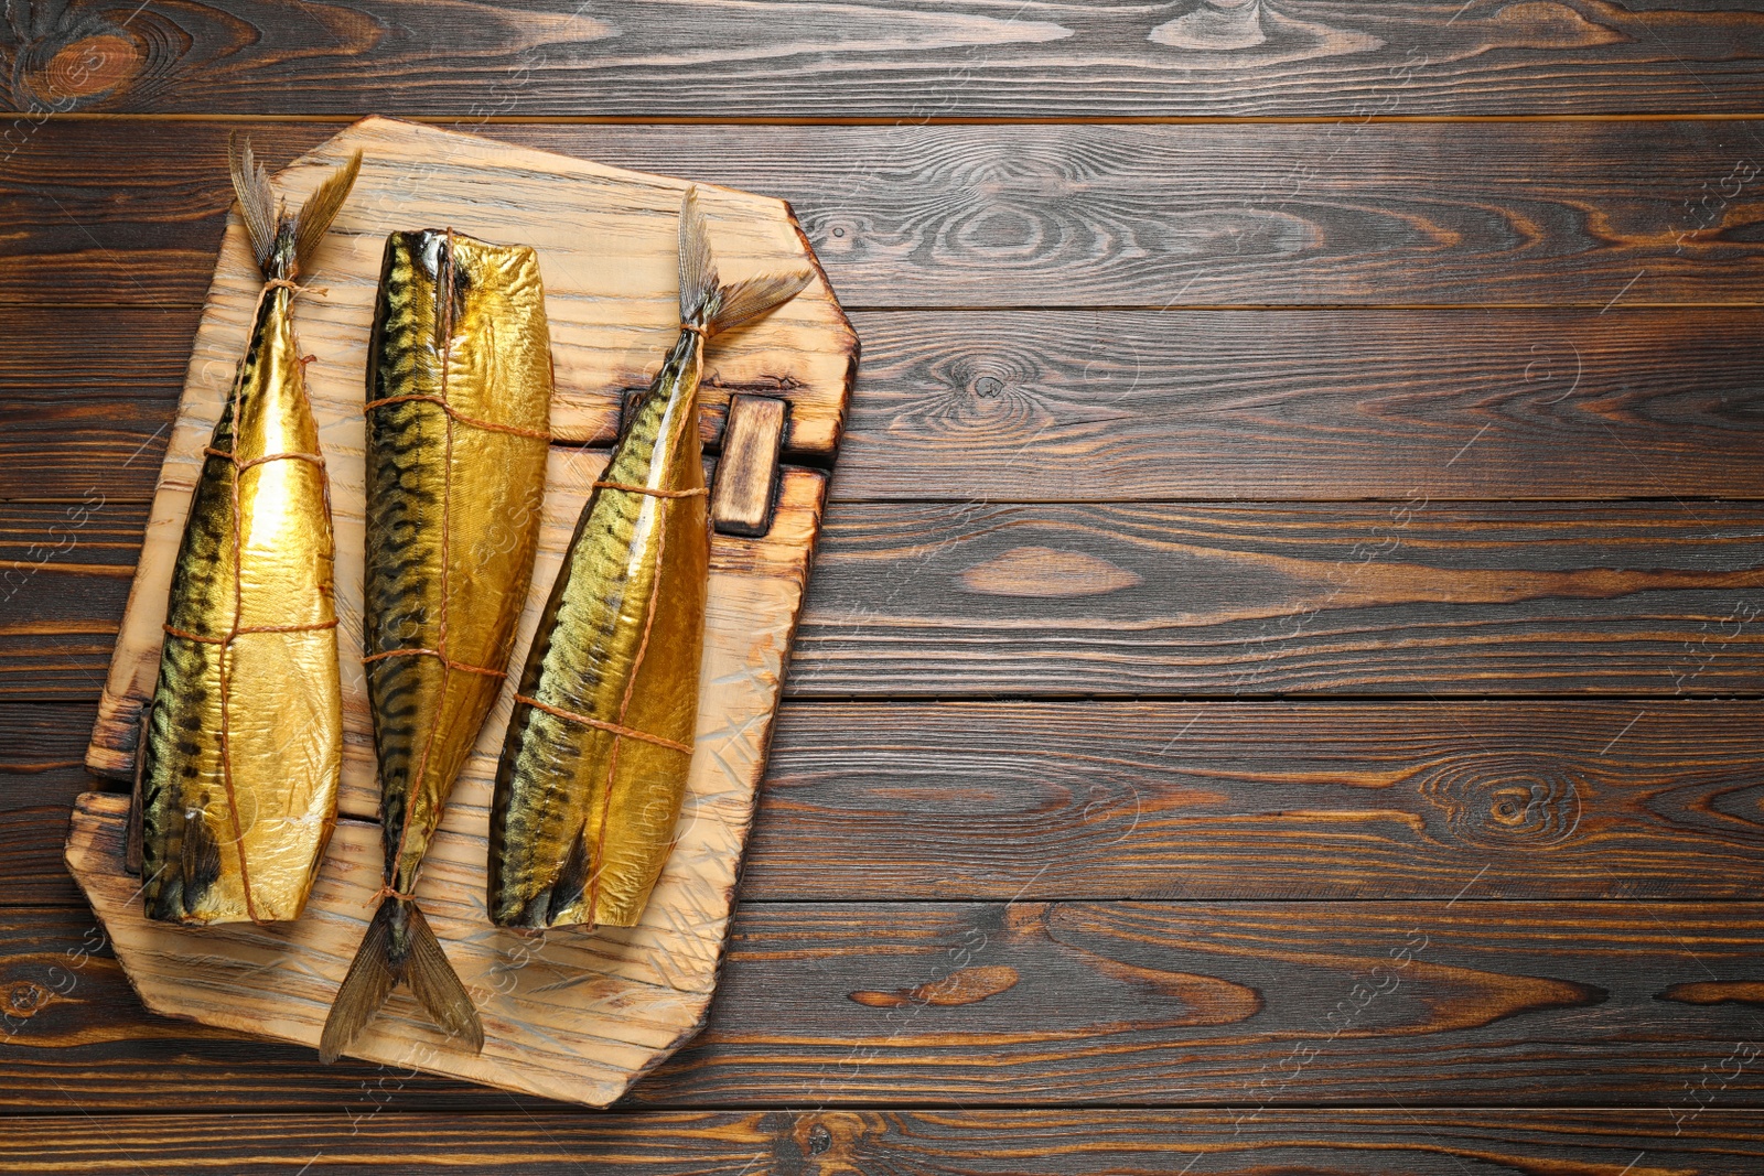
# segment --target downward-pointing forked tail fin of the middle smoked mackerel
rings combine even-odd
[[[411,899],[390,896],[374,912],[362,936],[362,947],[349,964],[349,975],[337,989],[325,1031],[319,1035],[319,1061],[326,1065],[360,1037],[392,989],[404,980],[416,1001],[446,1030],[462,1037],[473,1053],[483,1049],[483,1023],[471,996],[429,929],[429,920]]]

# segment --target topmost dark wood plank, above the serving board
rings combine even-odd
[[[4,46],[16,109],[644,116],[1753,111],[1764,21],[1552,2],[838,9],[418,0],[53,5]],[[58,18],[58,19],[56,19]]]

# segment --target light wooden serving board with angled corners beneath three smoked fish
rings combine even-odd
[[[393,229],[453,227],[534,245],[545,279],[557,390],[538,564],[512,665],[520,666],[575,518],[617,432],[677,330],[676,236],[686,183],[386,118],[355,123],[289,166],[298,203],[360,148],[362,175],[295,310],[332,478],[337,531],[344,772],[337,836],[300,920],[189,929],[143,919],[122,867],[127,797],[74,808],[67,864],[153,1012],[316,1046],[379,887],[379,804],[360,665],[367,339]],[[702,1024],[734,906],[741,850],[766,763],[783,666],[820,525],[857,339],[790,208],[699,185],[725,280],[815,266],[817,280],[707,354],[702,432],[713,474],[709,615],[699,733],[676,848],[633,929],[492,927],[485,912],[490,783],[512,686],[448,802],[416,894],[471,989],[485,1047],[452,1046],[407,993],[355,1056],[593,1105],[617,1098]],[[127,779],[136,723],[159,666],[161,624],[201,448],[229,391],[259,279],[235,213],[196,333],[86,763]]]

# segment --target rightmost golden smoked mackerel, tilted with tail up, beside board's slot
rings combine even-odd
[[[690,190],[679,268],[681,333],[582,510],[515,695],[490,809],[499,926],[637,926],[672,850],[709,585],[706,337],[810,280],[718,284]]]

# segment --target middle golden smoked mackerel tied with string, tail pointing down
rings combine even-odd
[[[386,238],[369,354],[362,661],[385,889],[319,1054],[399,982],[441,1028],[483,1028],[411,892],[503,688],[538,548],[550,425],[538,256],[448,229]]]

